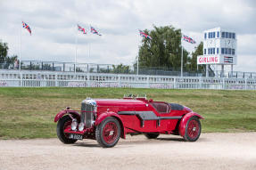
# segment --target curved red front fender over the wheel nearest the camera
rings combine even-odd
[[[119,122],[120,122],[120,127],[121,127],[121,138],[125,139],[126,138],[126,132],[125,132],[125,128],[122,122],[121,117],[115,113],[115,112],[104,112],[102,114],[99,115],[99,117],[96,118],[95,120],[95,126],[100,125],[102,123],[102,121],[106,118],[106,117],[115,117]]]

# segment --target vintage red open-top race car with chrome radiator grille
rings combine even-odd
[[[201,134],[200,118],[203,119],[185,106],[145,97],[87,98],[82,101],[81,110],[62,110],[54,122],[58,122],[56,131],[63,143],[94,139],[108,148],[127,134],[145,134],[148,139],[176,134],[195,142]]]

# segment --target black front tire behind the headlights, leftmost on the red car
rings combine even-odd
[[[68,115],[62,117],[58,121],[57,128],[56,128],[58,138],[60,139],[61,142],[65,144],[71,144],[78,141],[74,139],[69,139],[67,134],[66,135],[64,134],[64,125],[69,121],[72,121],[72,119]]]

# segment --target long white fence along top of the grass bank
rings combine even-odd
[[[256,90],[256,79],[0,70],[0,87],[4,86]]]

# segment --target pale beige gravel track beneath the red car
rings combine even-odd
[[[202,134],[197,142],[173,135],[127,137],[110,149],[93,140],[0,140],[0,170],[256,169],[256,133]]]

